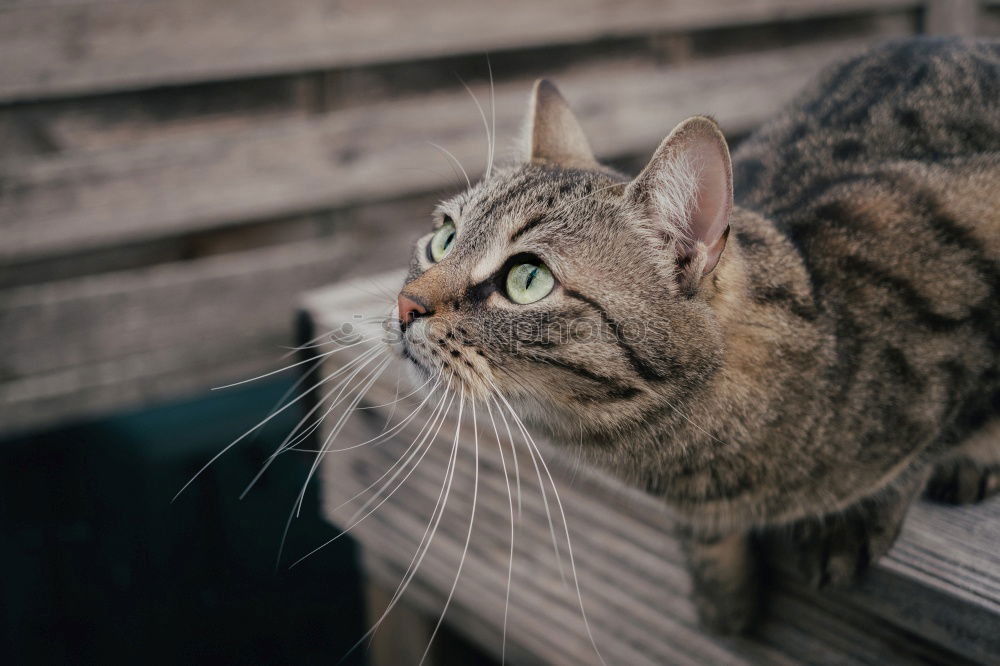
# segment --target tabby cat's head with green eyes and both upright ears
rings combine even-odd
[[[434,212],[393,313],[400,349],[425,377],[499,394],[556,435],[630,432],[721,362],[710,283],[732,211],[725,139],[690,118],[630,180],[597,163],[539,81],[525,143],[519,163]]]

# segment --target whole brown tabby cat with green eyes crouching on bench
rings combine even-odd
[[[527,118],[417,241],[401,354],[661,497],[706,626],[754,625],[773,544],[848,583],[922,491],[1000,488],[1000,42],[883,45],[634,178],[551,83]]]

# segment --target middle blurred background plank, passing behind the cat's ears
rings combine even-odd
[[[712,113],[727,130],[745,131],[822,66],[867,43],[821,43],[667,69],[589,66],[558,82],[592,130],[595,150],[613,157],[651,151],[693,113]],[[518,131],[529,86],[515,81],[497,89],[501,148]],[[34,159],[0,156],[0,262],[454,186],[449,162],[429,140],[451,150],[472,175],[484,166],[482,122],[461,90],[261,122],[253,130],[213,128]]]

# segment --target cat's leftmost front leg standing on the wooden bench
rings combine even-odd
[[[747,533],[680,535],[701,623],[721,634],[750,629],[759,615],[760,570]]]

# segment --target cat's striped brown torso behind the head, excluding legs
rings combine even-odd
[[[670,425],[682,464],[634,480],[698,523],[787,522],[1000,415],[1000,46],[845,63],[733,163],[719,385]]]

